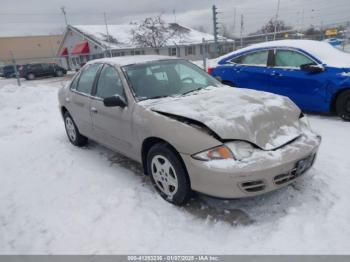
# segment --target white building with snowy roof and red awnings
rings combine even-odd
[[[105,56],[160,54],[200,60],[203,58],[203,52],[208,58],[215,55],[213,35],[175,23],[169,25],[180,29],[182,34],[170,37],[161,48],[135,44],[132,32],[137,28],[136,24],[108,25],[108,29],[105,25],[69,25],[59,47],[58,56],[66,57],[66,65],[69,63],[71,68],[79,68],[91,59]],[[220,53],[227,53],[233,49],[234,41],[231,39],[220,37],[218,42]]]

